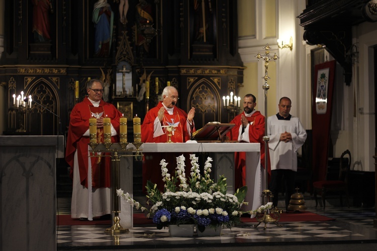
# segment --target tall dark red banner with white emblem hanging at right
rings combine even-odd
[[[313,181],[326,178],[335,61],[315,66],[312,107]]]

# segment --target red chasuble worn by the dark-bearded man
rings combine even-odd
[[[237,140],[238,139],[238,132],[239,128],[242,126],[241,123],[241,115],[245,114],[242,112],[241,114],[237,115],[233,118],[232,121],[229,123],[234,123],[236,126],[232,128],[232,137],[233,139],[230,140]],[[246,116],[245,116],[246,117]],[[265,119],[264,116],[260,113],[260,111],[255,111],[250,117],[246,117],[249,121],[249,140],[250,143],[260,143],[260,165],[265,166],[264,160],[264,141],[263,136],[265,135]],[[227,136],[230,138],[230,133]],[[244,142],[244,141],[241,141]],[[235,167],[235,174],[234,174],[234,188],[240,188],[246,185],[246,154],[244,152],[236,152],[234,155],[234,167]],[[268,161],[268,173],[271,172],[270,163]]]

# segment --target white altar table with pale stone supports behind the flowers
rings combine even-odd
[[[132,144],[128,149],[135,149]],[[265,188],[265,172],[260,167],[259,143],[144,143],[140,146],[141,153],[209,153],[213,159],[215,177],[224,175],[227,178],[228,193],[234,194],[234,152],[246,152],[246,185],[248,187],[245,201],[248,205],[244,211],[258,208],[261,203],[261,192]],[[157,164],[158,165],[158,164]],[[120,187],[132,195],[132,158],[121,158]],[[120,224],[133,227],[132,207],[121,200]]]

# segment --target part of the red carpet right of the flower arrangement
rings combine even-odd
[[[334,220],[323,215],[308,211],[281,213],[279,222],[293,222],[293,221],[326,221]],[[255,218],[241,217],[241,222],[257,222]]]

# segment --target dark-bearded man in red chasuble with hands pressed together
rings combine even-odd
[[[264,141],[265,119],[264,116],[254,109],[256,98],[253,94],[246,94],[243,98],[243,112],[233,118],[230,123],[236,126],[232,128],[232,134],[228,133],[231,140],[247,143],[260,143],[260,164],[265,165],[264,161]],[[246,185],[246,154],[236,152],[234,155],[234,189]]]

